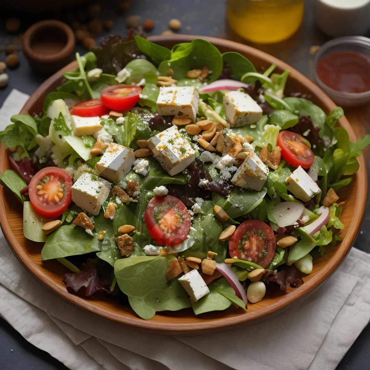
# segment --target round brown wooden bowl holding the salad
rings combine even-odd
[[[150,40],[171,48],[174,44],[189,42],[193,38],[196,38],[196,36],[171,35],[153,36]],[[257,68],[268,67],[270,64],[275,63],[280,72],[286,69],[290,70],[291,73],[286,87],[287,92],[299,91],[311,94],[313,102],[319,105],[326,113],[336,106],[308,78],[271,55],[232,41],[211,37],[202,38],[213,43],[222,53],[225,51],[237,51],[245,55]],[[51,76],[31,95],[30,99],[22,108],[21,113],[39,113],[42,110],[46,95],[54,91],[63,82],[62,73],[64,71],[73,71],[76,68],[77,64],[73,62]],[[356,140],[354,132],[346,118],[341,118],[339,125],[348,131],[351,141]],[[3,172],[9,168],[4,144],[1,146],[0,158],[0,171]],[[41,260],[40,252],[43,244],[31,242],[24,238],[21,205],[7,191],[4,191],[3,188],[0,190],[1,228],[8,239],[9,245],[20,261],[47,287],[74,305],[108,319],[136,326],[141,330],[151,330],[151,332],[154,330],[157,333],[172,335],[221,332],[231,330],[234,327],[240,328],[242,325],[246,326],[266,320],[268,317],[297,304],[303,297],[320,286],[340,265],[357,236],[366,203],[366,167],[363,156],[360,156],[358,160],[360,164],[359,171],[354,176],[351,184],[339,194],[340,200],[346,201],[341,216],[341,221],[345,226],[340,232],[343,242],[333,253],[314,260],[313,271],[303,279],[305,283],[302,286],[289,288],[285,294],[265,297],[258,303],[249,304],[248,312],[246,313],[242,310],[229,309],[195,316],[192,309],[184,309],[176,312],[159,312],[151,320],[143,320],[135,314],[131,307],[120,305],[115,300],[101,296],[83,299],[68,293],[63,283],[63,275],[67,270],[57,261],[49,260],[43,262]]]

